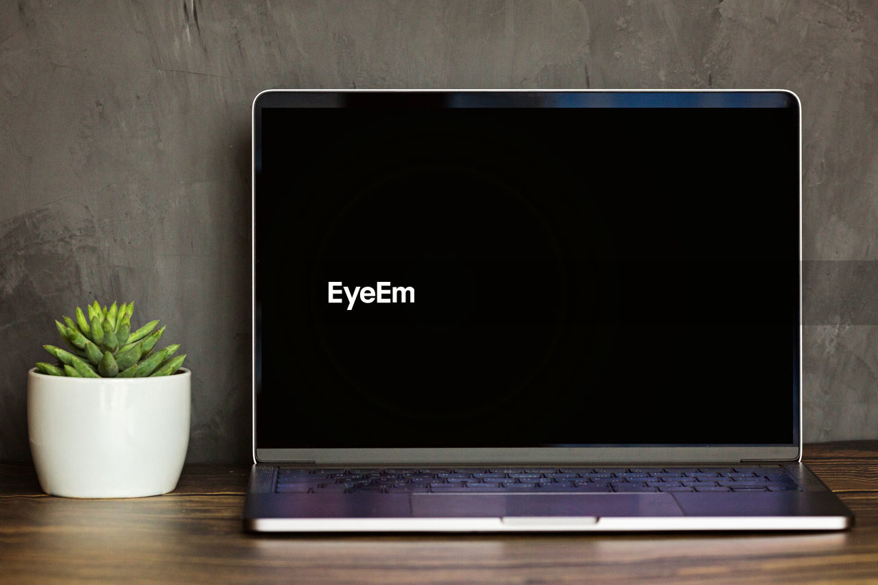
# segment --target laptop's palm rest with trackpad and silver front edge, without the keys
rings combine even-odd
[[[253,466],[256,480],[271,466]],[[801,464],[790,473],[813,475]],[[853,514],[813,482],[797,492],[651,494],[248,493],[264,532],[837,531]]]

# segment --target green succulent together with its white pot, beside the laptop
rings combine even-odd
[[[140,497],[176,487],[189,444],[191,372],[165,328],[132,331],[134,303],[55,321],[67,349],[28,372],[27,425],[40,487],[49,495]]]

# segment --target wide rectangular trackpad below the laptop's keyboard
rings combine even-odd
[[[683,516],[670,494],[413,494],[415,517]]]

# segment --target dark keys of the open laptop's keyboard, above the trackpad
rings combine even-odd
[[[277,493],[475,494],[534,492],[801,491],[781,466],[748,467],[280,467]]]

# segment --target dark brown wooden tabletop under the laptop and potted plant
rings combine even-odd
[[[248,466],[186,466],[169,495],[72,500],[0,465],[0,581],[878,582],[878,441],[806,445],[805,461],[853,530],[259,536],[241,531]]]

